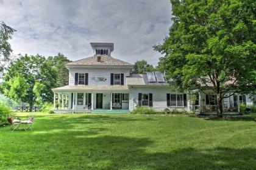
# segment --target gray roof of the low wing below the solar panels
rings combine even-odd
[[[169,86],[168,82],[149,82],[147,74],[131,74],[126,77],[126,83],[131,85],[153,85],[153,86]]]

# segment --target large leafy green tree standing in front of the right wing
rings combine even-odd
[[[227,92],[251,93],[256,84],[256,24],[252,0],[171,0],[169,36],[154,46],[160,68],[180,90],[212,89],[218,116]],[[232,96],[230,94],[230,96]]]

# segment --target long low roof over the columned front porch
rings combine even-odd
[[[63,87],[52,88],[52,91],[127,91],[129,88],[125,85],[66,85]]]

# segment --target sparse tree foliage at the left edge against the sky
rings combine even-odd
[[[9,60],[12,48],[9,40],[12,39],[13,32],[15,29],[7,26],[4,22],[0,21],[0,73],[5,68],[5,62]]]

